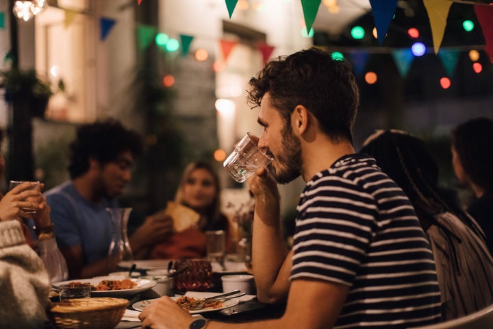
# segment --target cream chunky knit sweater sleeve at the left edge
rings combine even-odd
[[[42,328],[50,282],[18,221],[0,222],[1,328]]]

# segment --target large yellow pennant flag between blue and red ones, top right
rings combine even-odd
[[[424,0],[425,8],[431,25],[431,36],[433,37],[433,49],[438,53],[445,34],[446,19],[451,8],[452,1]]]

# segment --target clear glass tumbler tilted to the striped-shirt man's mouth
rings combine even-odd
[[[257,136],[247,132],[223,163],[223,167],[236,182],[244,182],[257,169],[266,167],[274,160],[259,149],[258,141]]]

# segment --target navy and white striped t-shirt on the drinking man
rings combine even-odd
[[[346,284],[335,328],[410,328],[440,321],[430,245],[409,199],[366,154],[314,176],[297,208],[291,279]]]

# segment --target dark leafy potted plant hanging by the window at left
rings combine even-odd
[[[53,95],[49,81],[42,79],[34,69],[0,71],[0,77],[0,86],[5,88],[5,101],[27,101],[34,117],[44,116]]]

